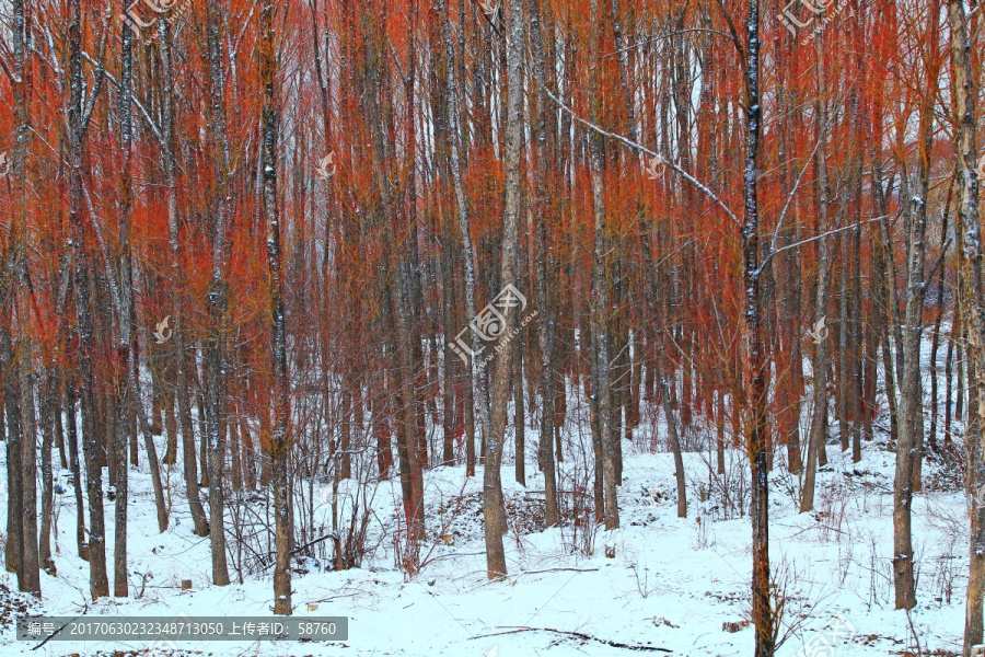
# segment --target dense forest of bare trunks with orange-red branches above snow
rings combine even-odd
[[[250,558],[289,614],[296,556],[362,555],[368,500],[333,496],[321,535],[315,483],[396,477],[413,574],[424,473],[464,464],[503,577],[501,477],[543,473],[546,527],[615,529],[649,404],[679,516],[685,437],[745,459],[756,657],[773,473],[811,511],[828,450],[860,460],[883,419],[913,608],[924,463],[985,486],[982,25],[977,0],[0,0],[7,569],[38,597],[55,574],[60,466],[91,596],[128,596],[146,463],[213,585],[273,542]],[[564,491],[578,395],[592,470]]]

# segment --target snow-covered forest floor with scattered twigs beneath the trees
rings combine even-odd
[[[641,427],[646,424],[647,419]],[[3,591],[0,655],[123,656],[153,654],[155,647],[165,655],[217,656],[752,655],[753,629],[746,624],[751,528],[748,516],[739,510],[748,505],[748,493],[743,493],[748,475],[741,476],[745,464],[730,452],[732,505],[727,506],[721,477],[711,477],[712,494],[707,494],[709,454],[685,454],[690,517],[681,519],[673,459],[662,452],[662,442],[658,453],[649,453],[654,441],[648,433],[641,428],[634,441],[624,441],[622,527],[593,537],[572,522],[538,530],[544,485],[536,472],[536,454],[528,454],[528,487],[512,481],[512,464],[503,464],[510,514],[505,537],[509,578],[503,581],[486,579],[480,466],[478,477],[468,480],[464,468],[426,473],[429,539],[421,551],[425,565],[414,576],[405,576],[395,566],[393,544],[379,538],[399,499],[397,481],[380,484],[372,502],[370,551],[361,567],[333,572],[309,560],[302,564],[308,573],[292,579],[296,614],[349,618],[348,638],[337,643],[48,642],[38,647],[39,642],[16,641],[10,621],[25,611],[32,615],[194,616],[269,615],[271,610],[269,572],[244,575],[245,581],[239,584],[233,560],[234,583],[211,586],[209,541],[192,532],[177,469],[170,472],[171,526],[163,534],[157,532],[146,461],[130,471],[130,598],[93,602],[89,566],[76,555],[72,486],[67,471],[56,471],[63,491],[56,495],[58,574],[42,574],[40,602]],[[660,436],[665,433],[661,430]],[[700,443],[692,438],[694,445]],[[577,445],[582,439],[572,441]],[[769,549],[776,596],[784,602],[780,635],[786,637],[780,657],[798,652],[806,657],[960,653],[967,585],[967,502],[953,476],[949,479],[930,460],[925,463],[924,491],[914,503],[919,604],[909,618],[894,611],[890,569],[894,456],[884,440],[880,430],[874,441],[865,445],[858,464],[842,454],[837,445],[828,445],[831,462],[819,479],[814,514],[798,514],[796,477],[785,474],[779,464],[772,474]],[[532,449],[534,431],[528,441]],[[565,461],[561,469],[567,489],[572,482],[586,481],[583,464],[575,459]],[[0,477],[4,475],[2,466]],[[0,482],[0,487],[5,489],[5,484]],[[5,504],[0,509],[0,528],[4,528]],[[320,522],[325,522],[325,514],[327,507],[315,510]],[[108,502],[106,515],[112,579],[114,512]],[[588,554],[589,545],[592,554]],[[0,579],[5,587],[16,588],[12,576],[3,574]],[[190,590],[182,590],[183,579],[192,580]],[[318,607],[308,611],[309,603]],[[837,631],[832,629],[833,619]],[[834,649],[825,648],[827,644]]]

